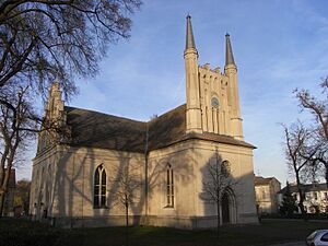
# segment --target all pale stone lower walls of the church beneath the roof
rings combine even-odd
[[[232,176],[236,180],[233,187],[234,202],[231,201],[230,208],[231,223],[257,222],[253,150],[202,140],[188,140],[152,151],[148,156],[148,172],[144,169],[144,155],[140,153],[57,147],[34,160],[31,204],[37,206],[31,212],[40,219],[47,209],[47,215],[57,218],[56,223],[59,224],[59,220],[66,221],[61,222],[63,225],[71,224],[72,219],[75,226],[79,223],[87,226],[124,224],[125,209],[115,197],[115,177],[119,168],[129,165],[141,184],[129,210],[131,223],[176,227],[215,226],[216,209],[203,199],[202,184],[207,165],[213,162],[216,152],[222,161],[230,162]],[[101,164],[107,174],[107,208],[95,209],[94,173]],[[173,208],[167,208],[166,203],[168,164],[174,172]],[[148,200],[145,180],[149,184]]]

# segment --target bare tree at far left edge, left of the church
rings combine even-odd
[[[19,150],[34,137],[30,129],[36,129],[31,112],[27,87],[5,86],[0,93],[0,216],[2,215],[4,196],[8,190],[11,168],[16,161]],[[10,102],[10,103],[2,103]]]

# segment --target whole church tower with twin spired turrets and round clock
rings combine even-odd
[[[216,133],[243,140],[237,67],[230,35],[225,35],[224,73],[209,63],[198,65],[191,17],[187,16],[186,49],[186,132]]]

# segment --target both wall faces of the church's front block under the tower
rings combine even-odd
[[[200,140],[189,140],[150,154],[149,215],[164,218],[166,221],[168,218],[171,220],[166,225],[172,226],[172,223],[177,223],[175,218],[183,220],[183,226],[187,226],[187,221],[195,225],[197,220],[198,226],[214,226],[216,207],[203,199],[202,185],[207,165],[215,157],[216,150],[222,161],[231,163],[231,172],[236,180],[233,187],[235,203],[231,204],[230,209],[231,223],[256,223],[251,149]],[[174,208],[165,208],[167,163],[172,164],[175,173]],[[162,221],[157,225],[165,225],[165,222]]]

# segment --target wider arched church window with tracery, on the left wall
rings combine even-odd
[[[99,165],[94,174],[94,208],[106,207],[106,171],[102,165]]]

